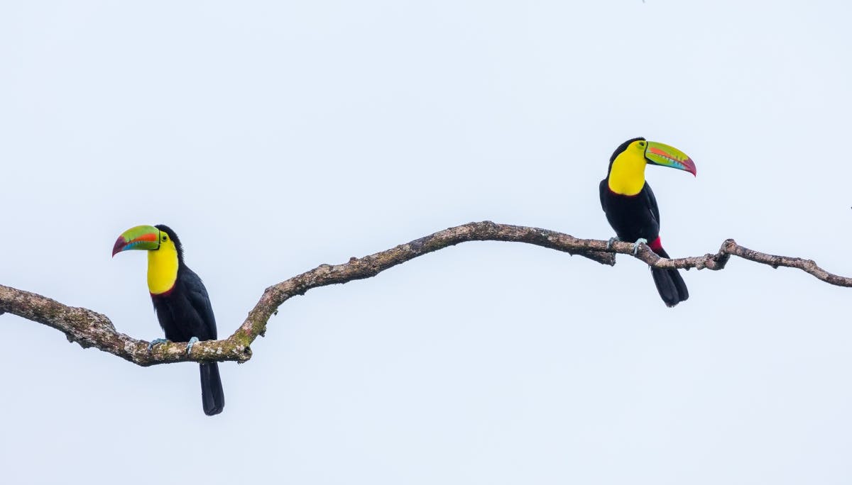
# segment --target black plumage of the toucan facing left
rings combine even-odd
[[[175,243],[178,260],[175,286],[164,294],[151,295],[165,338],[172,342],[187,342],[193,337],[198,337],[199,340],[215,340],[216,317],[213,315],[210,297],[207,296],[207,288],[204,288],[199,275],[183,262],[183,247],[175,231],[166,225],[156,227],[168,234]],[[199,365],[204,414],[219,414],[225,407],[219,365],[216,362]]]

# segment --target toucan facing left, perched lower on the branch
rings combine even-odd
[[[137,225],[124,231],[112,247],[112,255],[129,249],[148,252],[148,291],[165,339],[154,339],[153,345],[166,341],[188,342],[187,353],[199,340],[216,339],[216,317],[207,296],[207,288],[199,275],[183,262],[183,246],[175,231],[166,225]],[[222,413],[225,394],[219,365],[204,362],[201,368],[201,402],[204,414]]]

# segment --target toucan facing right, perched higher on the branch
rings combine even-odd
[[[662,258],[669,254],[659,240],[659,207],[651,185],[645,181],[645,166],[686,170],[695,175],[692,158],[673,146],[644,138],[627,140],[609,158],[607,178],[601,180],[601,207],[609,225],[618,237],[613,240],[635,242],[633,254],[642,243]],[[650,242],[649,242],[650,241]],[[651,268],[653,282],[666,306],[674,306],[689,298],[686,283],[677,270]]]

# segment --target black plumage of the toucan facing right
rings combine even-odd
[[[601,180],[601,207],[607,214],[609,225],[613,226],[615,234],[622,241],[634,242],[644,238],[648,247],[662,258],[668,258],[662,244],[659,242],[659,207],[654,197],[651,185],[645,182],[642,190],[634,196],[617,194],[609,189],[609,174],[615,158],[627,149],[630,143],[643,138],[627,140],[613,152],[609,159],[607,178]],[[657,286],[660,298],[666,306],[674,306],[689,298],[687,285],[677,270],[651,268],[653,282]]]

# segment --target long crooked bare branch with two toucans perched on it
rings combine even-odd
[[[264,334],[269,318],[278,311],[279,305],[292,297],[305,294],[311,288],[374,277],[417,256],[468,241],[527,242],[568,254],[578,254],[603,265],[614,265],[615,253],[633,254],[631,242],[613,242],[613,247],[607,249],[607,242],[597,239],[579,239],[561,232],[522,225],[495,224],[487,220],[471,222],[400,244],[381,253],[360,259],[352,258],[342,265],[319,265],[311,271],[279,282],[263,292],[245,322],[230,337],[199,342],[193,346],[189,355],[185,351],[186,344],[173,342],[157,345],[152,351],[148,351],[147,341],[118,333],[110,319],[100,313],[62,305],[39,294],[3,285],[0,285],[0,315],[6,311],[33,322],[43,323],[60,330],[66,334],[69,341],[78,342],[83,348],[95,347],[141,366],[186,361],[246,362],[251,358],[251,343],[258,335]],[[658,268],[721,270],[732,255],[773,268],[798,268],[832,285],[852,287],[852,278],[829,273],[813,260],[760,253],[740,246],[733,239],[722,242],[722,248],[719,248],[716,254],[668,260],[660,258],[648,246],[642,245],[635,257]]]

